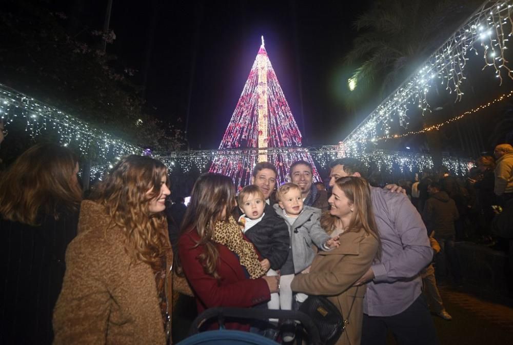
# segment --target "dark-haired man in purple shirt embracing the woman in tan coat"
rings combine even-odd
[[[330,186],[344,176],[367,178],[367,168],[355,158],[337,159],[330,167]],[[388,330],[400,345],[438,344],[419,275],[433,256],[424,222],[406,195],[376,187],[370,191],[382,253],[355,283],[367,283],[362,345],[384,345]]]

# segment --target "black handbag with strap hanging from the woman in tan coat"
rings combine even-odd
[[[344,319],[339,309],[324,296],[308,296],[308,298],[302,303],[301,307],[299,307],[299,311],[310,316],[313,323],[319,330],[321,342],[324,345],[333,345],[337,340],[339,340],[347,323],[349,323],[348,319],[351,314],[355,298],[356,293],[346,319]]]

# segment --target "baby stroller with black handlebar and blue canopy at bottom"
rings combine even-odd
[[[202,325],[210,319],[216,318],[219,323],[219,330],[200,332]],[[320,345],[319,331],[313,324],[311,318],[305,313],[288,310],[266,310],[247,308],[211,308],[207,309],[194,319],[189,330],[189,337],[177,343],[177,345],[276,345],[278,342],[266,338],[257,333],[226,330],[224,328],[226,319],[240,320],[264,320],[276,318],[280,320],[295,320],[300,322],[306,335],[308,345]],[[302,344],[302,336],[295,339],[297,344]]]

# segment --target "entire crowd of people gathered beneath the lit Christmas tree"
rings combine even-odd
[[[469,221],[491,225],[477,230],[483,241],[510,231],[513,148],[495,156],[465,181],[446,172],[384,188],[355,158],[331,162],[328,186],[303,160],[277,186],[261,162],[239,195],[231,178],[201,175],[186,207],[168,202],[166,166],[137,155],[83,200],[77,156],[38,144],[0,175],[0,343],[164,345],[186,336],[175,329],[184,300],[197,315],[299,310],[319,295],[347,318],[337,344],[385,344],[389,331],[400,344],[437,344],[430,309],[451,318],[437,279],[463,283],[455,240]],[[279,318],[224,326],[283,343],[301,332]]]

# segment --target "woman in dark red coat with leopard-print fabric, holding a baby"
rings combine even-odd
[[[207,173],[196,180],[178,247],[180,266],[199,313],[215,307],[250,308],[278,292],[277,277],[259,278],[259,267],[254,265],[258,254],[231,216],[234,206],[235,191],[229,177]],[[234,241],[238,236],[240,240]],[[227,322],[225,327],[249,330],[249,324],[240,322]]]

